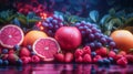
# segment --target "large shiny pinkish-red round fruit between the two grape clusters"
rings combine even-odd
[[[76,49],[81,42],[81,33],[75,27],[62,27],[55,32],[55,39],[62,50],[70,51]]]

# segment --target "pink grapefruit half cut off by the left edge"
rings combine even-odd
[[[4,25],[0,30],[0,44],[4,47],[12,49],[14,45],[20,45],[23,42],[23,31],[13,24]]]

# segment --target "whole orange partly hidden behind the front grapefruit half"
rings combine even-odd
[[[48,35],[42,31],[29,31],[24,36],[23,45],[32,45],[33,42],[40,38],[48,38]]]

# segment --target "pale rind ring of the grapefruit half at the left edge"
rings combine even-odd
[[[13,28],[16,28],[18,31],[20,31],[21,40],[20,40],[16,45],[21,45],[22,42],[23,42],[24,33],[23,33],[23,31],[21,30],[21,28],[17,27],[17,25],[14,25],[14,24],[4,25],[4,27],[0,30],[0,36],[1,36],[1,32],[2,32],[4,29],[9,28],[9,27],[13,27]],[[0,38],[0,44],[1,44],[3,47],[12,49],[12,47],[14,46],[14,45],[4,44],[1,40],[2,40],[2,39]]]

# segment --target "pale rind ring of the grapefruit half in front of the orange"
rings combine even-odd
[[[40,56],[43,61],[45,61],[45,62],[51,62],[51,61],[53,61],[53,60],[54,60],[54,56],[53,56],[52,59],[47,59],[44,55],[41,55],[41,54],[39,54],[39,53],[35,51],[35,44],[37,44],[39,41],[41,41],[41,40],[51,40],[51,41],[53,41],[53,42],[55,43],[57,47],[58,47],[57,53],[60,52],[60,45],[59,45],[59,43],[58,43],[57,40],[54,40],[53,38],[40,38],[40,39],[38,39],[38,40],[33,43],[33,45],[32,45],[33,52],[34,52],[38,56]]]

